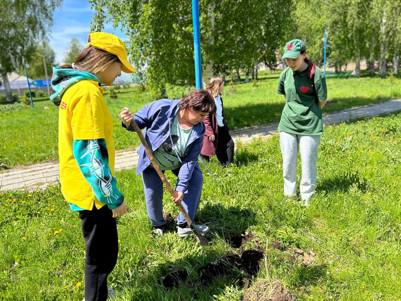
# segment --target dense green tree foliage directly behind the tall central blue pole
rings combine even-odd
[[[121,26],[128,53],[152,98],[165,96],[166,83],[194,82],[192,5],[174,0],[90,0],[92,30],[105,22]],[[199,1],[202,65],[215,73],[275,63],[275,50],[290,22],[292,4],[283,0]]]

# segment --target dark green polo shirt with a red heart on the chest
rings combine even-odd
[[[326,77],[316,66],[313,91],[312,79],[304,71],[292,71],[287,67],[281,74],[277,93],[286,95],[286,105],[278,129],[283,132],[303,135],[323,134],[322,109],[318,102],[327,99]]]

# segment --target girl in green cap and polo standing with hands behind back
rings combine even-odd
[[[288,67],[280,74],[277,93],[286,99],[281,120],[280,148],[283,155],[284,195],[297,196],[298,150],[301,153],[301,205],[316,189],[316,161],[320,136],[323,134],[322,108],[327,100],[326,78],[306,57],[306,46],[301,40],[286,43],[284,55]]]

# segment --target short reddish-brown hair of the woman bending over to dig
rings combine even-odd
[[[216,113],[215,100],[212,94],[207,90],[191,90],[184,98],[182,98],[178,105],[180,106],[180,110],[192,107],[197,112],[209,114]]]

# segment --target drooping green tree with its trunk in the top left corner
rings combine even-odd
[[[7,73],[20,69],[21,57],[28,61],[37,41],[46,41],[53,25],[53,12],[62,0],[2,0],[0,17],[0,74],[6,96],[12,102]]]

